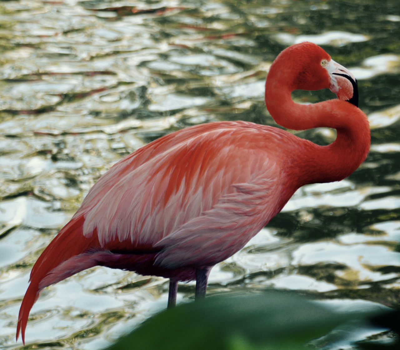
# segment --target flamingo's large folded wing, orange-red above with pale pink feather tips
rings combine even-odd
[[[148,151],[152,156],[140,149],[136,158],[128,156],[111,168],[76,214],[84,214],[85,237],[97,231],[103,246],[116,239],[152,246],[237,192],[234,184],[256,186],[252,181],[264,173],[262,186],[271,187],[268,181],[280,176],[268,173],[280,162],[265,147],[276,138],[272,128],[215,124],[204,132],[190,128],[185,137],[166,138],[164,151],[156,142]]]

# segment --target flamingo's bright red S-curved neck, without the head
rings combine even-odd
[[[351,103],[338,99],[312,105],[294,103],[291,89],[277,85],[267,77],[265,101],[276,123],[293,130],[328,127],[337,131],[336,140],[328,146],[298,139],[290,156],[293,171],[297,169],[298,173],[297,185],[338,181],[354,172],[370,148],[366,115]]]

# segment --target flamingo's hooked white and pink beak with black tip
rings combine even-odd
[[[326,65],[330,76],[330,91],[338,99],[348,101],[358,107],[357,79],[347,68],[331,59]]]

